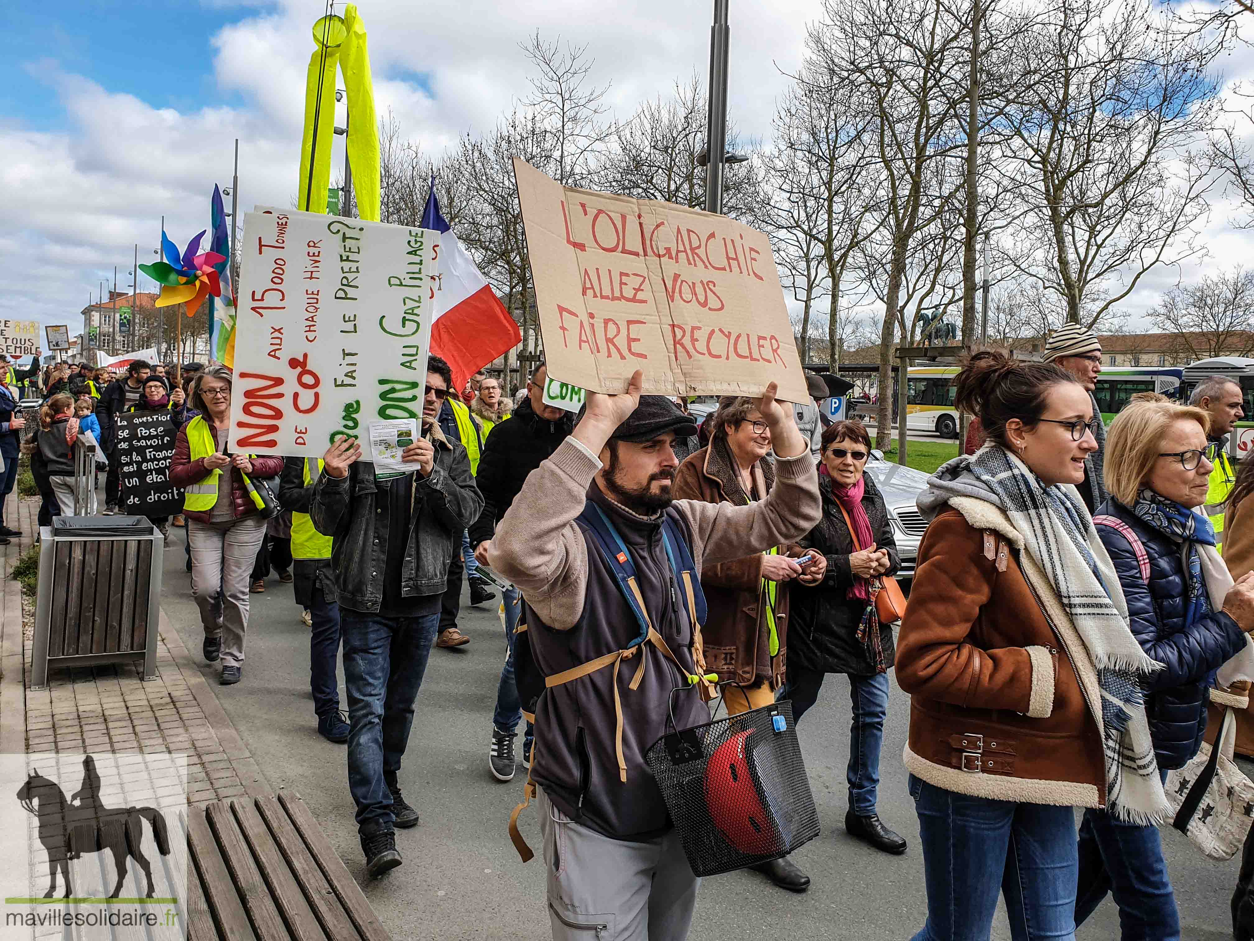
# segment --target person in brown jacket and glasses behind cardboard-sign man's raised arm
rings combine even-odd
[[[771,432],[754,400],[725,395],[710,419],[710,444],[675,472],[676,499],[745,506],[775,486],[769,459]],[[776,546],[767,552],[706,566],[701,571],[706,615],[701,630],[706,666],[719,674],[730,715],[775,703],[784,684],[789,583],[818,583],[828,562],[820,552]],[[754,867],[780,888],[804,892],[810,877],[788,857]]]

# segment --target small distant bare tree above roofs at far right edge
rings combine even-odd
[[[1150,320],[1174,334],[1190,360],[1254,354],[1254,271],[1240,265],[1172,287]]]

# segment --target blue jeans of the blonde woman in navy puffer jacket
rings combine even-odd
[[[1076,925],[1082,925],[1110,892],[1119,905],[1125,938],[1179,941],[1180,912],[1157,827],[1124,823],[1104,811],[1088,809],[1080,824],[1078,852]]]

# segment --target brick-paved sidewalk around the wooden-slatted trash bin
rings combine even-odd
[[[53,669],[48,689],[30,690],[35,606],[9,575],[34,542],[38,498],[6,502],[20,540],[0,547],[0,752],[186,753],[188,802],[272,793],[252,754],[162,611],[155,680],[143,659]]]

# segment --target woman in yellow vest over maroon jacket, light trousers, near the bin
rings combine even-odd
[[[212,365],[192,383],[188,400],[201,414],[179,429],[169,469],[171,483],[183,488],[192,597],[204,627],[202,652],[211,664],[222,661],[223,685],[242,678],[250,576],[266,536],[250,479],[283,470],[282,458],[231,453],[231,378],[229,369]]]

